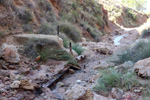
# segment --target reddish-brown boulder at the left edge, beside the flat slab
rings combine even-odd
[[[14,45],[8,45],[6,43],[3,43],[0,48],[0,57],[10,63],[18,63],[20,61],[17,48]]]

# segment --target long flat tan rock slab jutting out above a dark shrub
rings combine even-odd
[[[46,40],[45,42],[52,42],[52,43],[57,43],[60,45],[61,48],[63,48],[63,40],[56,35],[44,35],[44,34],[19,34],[19,35],[14,35],[16,40],[20,44],[25,44],[27,41],[32,41],[32,40]],[[42,43],[44,44],[44,43]]]

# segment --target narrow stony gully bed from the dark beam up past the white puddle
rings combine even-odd
[[[139,33],[136,29],[117,28],[110,35],[104,36],[102,42],[81,42],[80,45],[85,49],[83,55],[86,56],[79,63],[81,70],[76,71],[74,74],[65,75],[61,80],[65,87],[56,87],[53,92],[65,97],[66,91],[75,84],[91,90],[96,84],[96,80],[100,77],[98,70],[115,66],[109,58],[132,44],[138,37]],[[91,99],[88,98],[88,100]]]

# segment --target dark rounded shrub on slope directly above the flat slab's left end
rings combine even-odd
[[[18,11],[18,17],[24,23],[29,23],[33,20],[32,12],[26,9],[20,9]]]

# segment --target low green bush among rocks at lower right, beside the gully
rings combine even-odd
[[[140,86],[140,82],[136,79],[136,74],[127,72],[125,74],[117,72],[113,68],[103,69],[100,71],[102,77],[99,78],[94,91],[108,95],[112,88],[121,88],[124,91],[132,90],[133,87]]]

